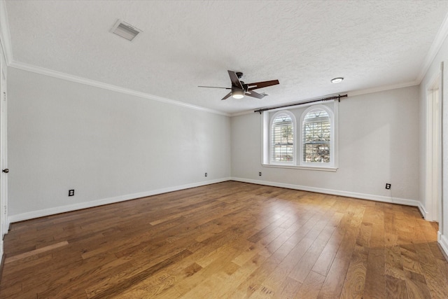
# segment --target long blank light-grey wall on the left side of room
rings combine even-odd
[[[230,176],[227,116],[14,68],[8,90],[11,222]]]

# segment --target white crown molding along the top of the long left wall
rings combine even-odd
[[[73,76],[70,74],[66,74],[66,73],[62,73],[59,71],[53,71],[51,69],[45,69],[43,67],[36,67],[34,65],[31,64],[25,64],[23,62],[11,62],[8,67],[13,67],[15,69],[21,69],[22,71],[31,71],[33,73],[36,74],[41,74],[41,75],[45,75],[45,76],[51,76],[51,77],[55,77],[55,78],[59,78],[62,80],[66,80],[66,81],[71,81],[71,82],[76,82],[76,83],[80,83],[80,84],[85,84],[85,85],[90,85],[90,86],[94,86],[96,88],[102,88],[105,90],[112,90],[115,92],[120,92],[123,93],[125,95],[132,95],[134,97],[141,97],[144,99],[152,99],[154,101],[158,101],[158,102],[163,102],[163,103],[167,103],[167,104],[172,104],[172,105],[176,105],[176,106],[181,106],[184,108],[188,108],[188,109],[193,109],[193,110],[199,110],[199,111],[204,111],[204,112],[209,112],[209,113],[214,113],[214,114],[219,114],[221,116],[230,116],[228,113],[224,113],[221,111],[217,111],[217,110],[213,110],[213,109],[207,109],[204,107],[200,107],[200,106],[196,106],[196,105],[192,105],[192,104],[187,104],[184,102],[179,102],[179,101],[175,101],[174,99],[167,99],[165,97],[158,97],[157,95],[150,95],[146,92],[139,92],[136,90],[130,90],[127,88],[121,88],[119,86],[116,85],[111,85],[111,84],[107,84],[107,83],[102,83],[99,81],[94,81],[94,80],[90,80],[87,78],[82,78],[82,77],[78,77],[78,76]]]

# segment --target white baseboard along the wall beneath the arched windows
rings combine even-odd
[[[419,207],[420,210],[423,209],[421,202],[419,202],[418,200],[407,200],[405,198],[386,197],[386,196],[381,196],[381,195],[354,193],[354,192],[342,191],[342,190],[332,190],[332,189],[325,189],[325,188],[292,185],[292,184],[288,184],[288,183],[277,183],[277,182],[272,182],[272,181],[241,179],[241,178],[235,178],[235,177],[232,177],[232,181],[241,181],[244,183],[256,183],[258,185],[274,186],[274,187],[281,187],[281,188],[288,188],[288,189],[295,189],[295,190],[302,190],[302,191],[309,191],[309,192],[316,192],[316,193],[324,193],[324,194],[330,194],[330,195],[339,195],[339,196],[344,196],[344,197],[354,197],[354,198],[360,198],[362,200],[374,200],[377,202],[388,202],[388,203],[392,203],[392,204],[405,204],[407,206]],[[424,209],[423,209],[423,211],[424,211]]]

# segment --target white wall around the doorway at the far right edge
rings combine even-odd
[[[428,71],[426,71],[426,75],[424,76],[423,80],[420,84],[420,117],[421,117],[421,125],[420,125],[420,143],[421,143],[421,165],[420,165],[420,172],[421,172],[421,180],[420,180],[420,186],[421,186],[421,198],[423,204],[426,204],[426,188],[425,188],[425,182],[426,182],[426,93],[428,90],[428,85],[432,83],[435,77],[437,77],[438,74],[440,74],[440,63],[444,63],[444,74],[443,74],[443,115],[442,115],[442,143],[443,143],[443,182],[442,182],[442,189],[443,189],[443,210],[442,210],[442,225],[439,228],[440,234],[439,234],[439,242],[442,245],[442,248],[444,249],[445,253],[448,255],[448,38],[444,40],[444,43],[442,44],[442,47],[440,48],[439,52],[435,56],[432,64],[430,65],[430,68]]]

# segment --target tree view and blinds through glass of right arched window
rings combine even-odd
[[[323,109],[314,109],[303,120],[303,162],[330,162],[330,116]]]

